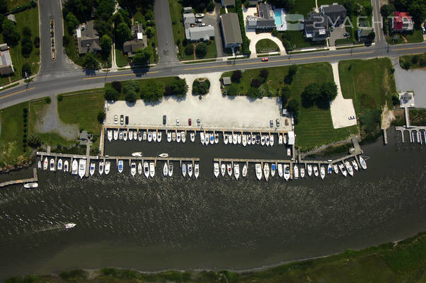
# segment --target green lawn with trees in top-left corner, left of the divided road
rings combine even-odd
[[[18,6],[18,5],[17,5]],[[25,26],[28,26],[31,28],[31,40],[34,40],[35,37],[39,36],[38,32],[38,7],[30,8],[28,10],[25,10],[21,13],[15,14],[16,18],[16,28],[18,29],[18,33],[21,35],[21,39],[23,37],[22,35],[22,29]],[[0,34],[0,42],[3,41],[3,35]],[[31,72],[33,74],[38,73],[39,69],[39,62],[40,62],[40,49],[35,48],[33,45],[33,51],[30,54],[30,57],[25,58],[23,57],[21,53],[21,41],[16,45],[15,47],[11,47],[11,58],[13,62],[13,69],[15,70],[15,73],[13,76],[10,77],[11,81],[18,81],[23,78],[22,76],[22,66],[26,62],[30,63],[31,66]],[[0,86],[4,86],[5,84],[9,83],[9,79],[6,76],[3,76],[0,78]]]

